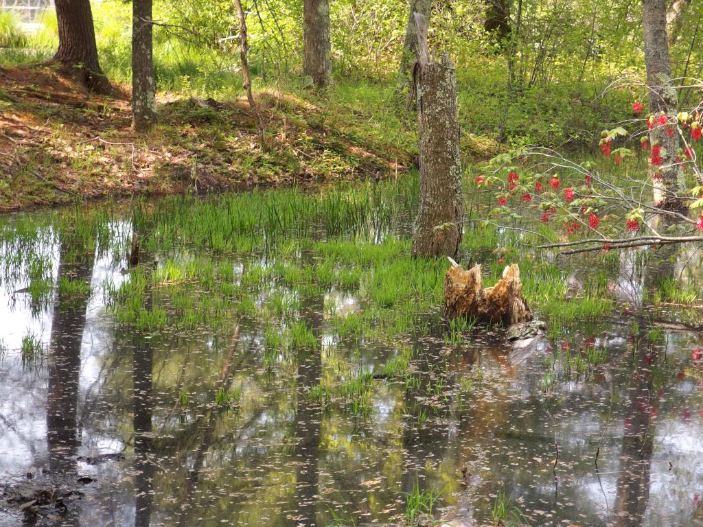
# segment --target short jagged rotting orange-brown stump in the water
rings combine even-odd
[[[481,266],[468,271],[458,265],[451,266],[444,277],[444,315],[506,326],[532,320],[532,312],[522,297],[520,268],[515,263],[506,266],[503,278],[484,289]]]

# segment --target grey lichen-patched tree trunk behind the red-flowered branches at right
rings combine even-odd
[[[683,190],[683,170],[676,163],[679,148],[678,134],[669,137],[666,128],[678,131],[676,114],[678,94],[671,81],[669,44],[666,39],[666,0],[643,0],[642,26],[645,36],[645,66],[650,93],[650,112],[664,113],[669,125],[655,126],[650,131],[650,145],[662,147],[662,166],[650,168],[654,181],[654,206],[663,209],[682,209],[685,204],[677,194]]]

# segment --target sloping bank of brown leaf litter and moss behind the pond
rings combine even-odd
[[[408,171],[417,157],[414,126],[384,100],[261,91],[268,141],[262,152],[243,97],[159,96],[157,126],[136,135],[129,89],[116,88],[114,98],[93,96],[54,67],[0,68],[0,211],[189,189],[379,179]],[[481,149],[467,150],[485,157]]]

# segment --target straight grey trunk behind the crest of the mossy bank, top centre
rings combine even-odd
[[[329,0],[304,0],[303,46],[303,76],[325,88],[332,79]]]

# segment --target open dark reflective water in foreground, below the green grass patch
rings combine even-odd
[[[330,315],[368,306],[326,292],[299,298],[318,345],[291,360],[272,356],[257,317],[127,330],[104,296],[129,280],[121,263],[67,266],[52,250],[56,280],[95,292],[37,307],[3,288],[0,481],[29,473],[82,494],[37,517],[2,503],[0,526],[325,526],[333,512],[399,525],[415,484],[441,492],[437,518],[452,526],[493,524],[498,493],[531,525],[703,525],[699,332],[626,313],[516,351],[486,328],[448,344],[428,315],[425,336],[340,339]],[[620,289],[636,294],[641,277],[626,271]],[[27,334],[36,356],[22,353]],[[587,350],[605,362],[579,375],[551,362]],[[310,396],[407,351],[412,381],[377,375],[363,411]]]

